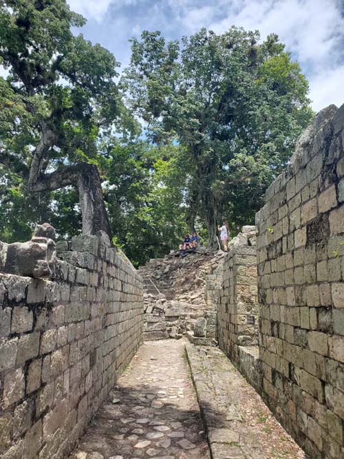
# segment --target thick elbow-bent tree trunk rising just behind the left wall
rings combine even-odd
[[[98,231],[105,231],[111,241],[111,228],[103,199],[100,176],[94,164],[82,162],[61,171],[41,175],[36,182],[28,185],[28,189],[36,193],[61,189],[65,186],[76,186],[78,189],[83,217],[83,234],[94,235]]]

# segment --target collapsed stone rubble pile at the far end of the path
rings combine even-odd
[[[197,248],[186,257],[171,251],[151,259],[139,268],[144,279],[144,340],[179,339],[193,330],[196,319],[207,318],[208,336],[215,338],[212,298],[206,298],[206,284],[222,264],[221,250]]]

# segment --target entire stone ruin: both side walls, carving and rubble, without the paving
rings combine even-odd
[[[310,458],[344,458],[344,105],[315,117],[228,254],[141,268],[144,302],[102,235],[55,247],[41,228],[0,244],[1,458],[61,459],[142,337],[183,334],[218,339]]]

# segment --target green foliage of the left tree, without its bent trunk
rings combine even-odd
[[[0,4],[0,237],[30,237],[48,221],[61,236],[80,229],[74,189],[30,195],[25,189],[36,152],[40,173],[80,161],[102,167],[100,133],[136,127],[122,105],[114,56],[71,28],[85,23],[65,0],[8,0]],[[120,113],[123,112],[123,117]],[[122,122],[122,119],[125,122]]]

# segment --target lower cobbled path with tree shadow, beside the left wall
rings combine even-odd
[[[184,345],[144,343],[69,459],[209,459]]]

